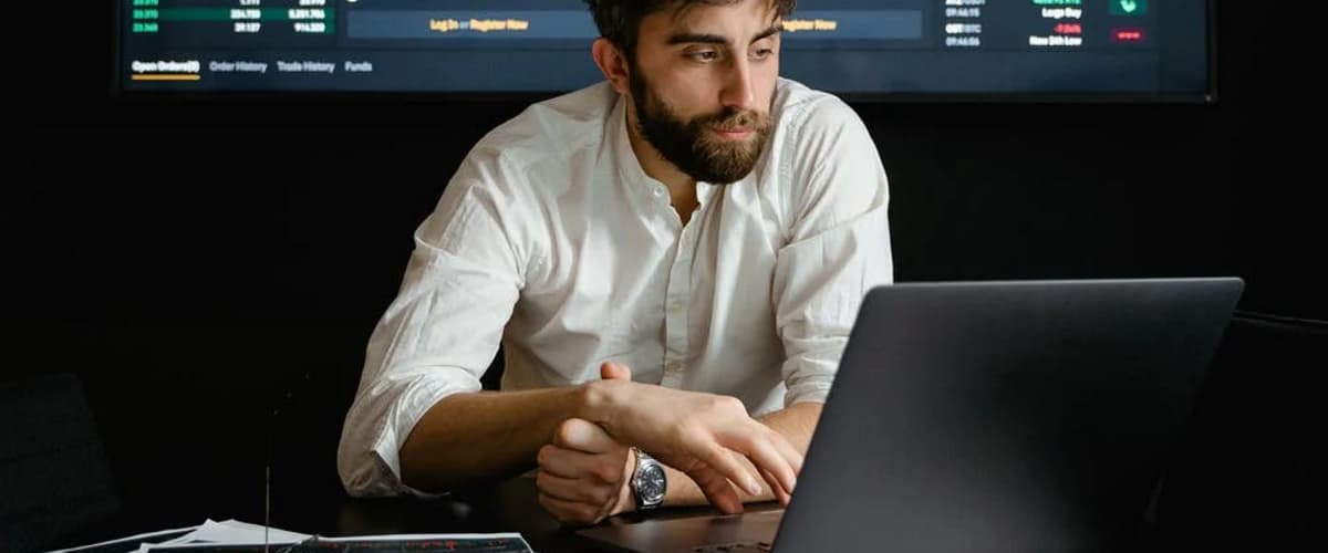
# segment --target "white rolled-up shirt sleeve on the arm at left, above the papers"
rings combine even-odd
[[[398,451],[424,414],[481,389],[522,288],[522,253],[497,175],[467,159],[417,228],[397,297],[365,351],[337,472],[352,496],[426,495],[401,481]]]

